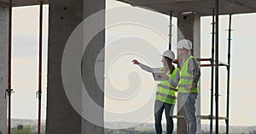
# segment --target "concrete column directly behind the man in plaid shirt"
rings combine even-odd
[[[193,55],[196,59],[201,58],[201,20],[199,14],[179,14],[177,16],[177,28],[179,31],[177,35],[177,41],[181,39],[189,39],[193,43]],[[181,107],[179,98],[177,98],[177,107]],[[201,115],[201,90],[199,86],[199,94],[195,103],[196,115]],[[178,115],[184,115],[183,109],[181,109]],[[186,122],[183,118],[177,120],[177,133],[186,133]],[[201,131],[201,120],[197,120],[197,133]]]

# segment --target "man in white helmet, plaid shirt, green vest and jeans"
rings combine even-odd
[[[178,98],[181,98],[187,123],[187,134],[196,133],[195,100],[201,76],[199,63],[190,55],[192,43],[183,39],[177,42],[178,67],[181,70]]]

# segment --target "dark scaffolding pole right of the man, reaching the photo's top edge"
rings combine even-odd
[[[215,112],[216,112],[216,134],[218,134],[218,8],[219,1],[215,0],[215,12],[216,12],[216,36],[215,36]]]

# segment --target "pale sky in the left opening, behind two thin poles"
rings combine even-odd
[[[12,49],[12,117],[15,119],[38,118],[38,24],[39,6],[13,9]],[[42,117],[46,117],[46,74],[48,5],[44,6],[43,41],[43,103]]]

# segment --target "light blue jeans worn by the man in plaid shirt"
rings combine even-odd
[[[196,133],[196,118],[195,118],[195,100],[197,98],[197,93],[178,93],[179,98],[181,98],[185,120],[187,123],[187,134]]]

